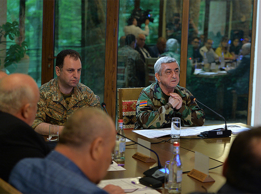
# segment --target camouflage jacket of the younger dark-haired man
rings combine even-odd
[[[90,88],[81,83],[77,84],[67,105],[59,89],[57,78],[52,79],[40,87],[40,100],[32,127],[35,128],[42,122],[64,125],[73,112],[88,106],[101,108],[100,97],[96,96]]]

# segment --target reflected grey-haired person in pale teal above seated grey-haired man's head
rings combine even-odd
[[[179,46],[178,40],[176,40],[174,38],[168,39],[166,42],[166,48],[167,48],[167,52],[162,53],[161,56],[175,58],[176,61],[178,62],[178,64],[180,64],[180,52],[179,52],[180,46]],[[192,64],[191,64],[190,60],[188,60],[187,78],[189,78],[191,74],[192,74]]]

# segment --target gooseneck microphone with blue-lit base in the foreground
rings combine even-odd
[[[125,137],[124,135],[122,135],[122,134],[119,134],[119,133],[117,133],[117,134],[120,135],[120,136],[122,136],[122,137],[124,137],[124,138],[126,138],[126,137]],[[127,139],[131,140],[130,138],[127,138]],[[134,141],[134,140],[131,140],[131,141],[134,142],[134,143],[136,143],[136,144],[138,144],[138,145],[140,145],[140,146],[142,146],[142,147],[144,147],[144,148],[146,148],[146,149],[148,149],[149,151],[153,152],[153,153],[157,156],[158,166],[153,167],[153,168],[151,168],[151,169],[145,171],[143,174],[146,175],[147,177],[152,177],[152,178],[157,179],[158,181],[161,181],[162,183],[164,183],[165,169],[164,169],[163,166],[161,166],[161,164],[160,164],[159,155],[158,155],[154,150],[149,149],[149,148],[145,147],[144,145],[139,144],[138,142],[136,142],[136,141]]]

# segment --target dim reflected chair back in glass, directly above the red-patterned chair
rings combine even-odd
[[[118,65],[117,65],[117,88],[127,88],[128,78],[127,78],[127,56],[118,55]]]

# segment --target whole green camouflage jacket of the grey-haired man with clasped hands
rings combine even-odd
[[[178,110],[164,98],[158,83],[144,88],[136,105],[137,122],[134,129],[171,127],[172,117],[181,118],[183,125],[202,126],[205,122],[205,113],[195,101],[190,100],[192,94],[181,86],[176,86],[174,92],[183,100],[182,107]]]

